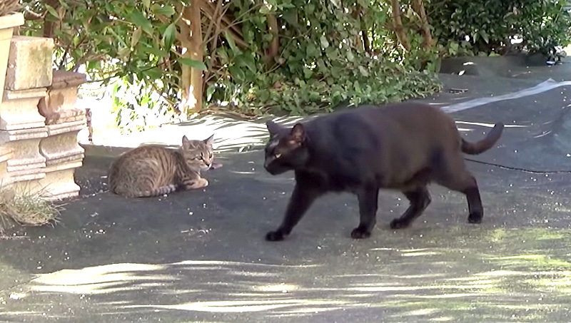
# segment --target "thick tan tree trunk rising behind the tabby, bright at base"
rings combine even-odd
[[[186,6],[183,10],[184,19],[188,19],[191,24],[190,42],[185,58],[192,58],[195,61],[203,61],[203,43],[201,26],[201,6],[203,0],[193,0],[191,6]],[[202,71],[190,66],[182,66],[183,83],[183,105],[181,113],[188,116],[189,113],[196,113],[202,108]]]

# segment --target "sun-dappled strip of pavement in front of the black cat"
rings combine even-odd
[[[18,301],[6,300],[10,307],[0,307],[0,317],[61,318],[64,307],[50,309],[53,299],[83,299],[97,309],[94,315],[155,321],[557,322],[571,319],[569,247],[569,230],[448,230],[410,247],[354,247],[327,263],[101,265],[40,275]]]

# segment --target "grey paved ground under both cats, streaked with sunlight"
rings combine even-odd
[[[555,68],[557,81],[571,78],[567,64],[537,66],[536,78],[443,74],[445,91],[425,101],[446,107],[517,92]],[[206,190],[168,197],[106,193],[104,175],[116,154],[88,147],[76,172],[82,197],[67,202],[61,222],[0,242],[0,320],[570,322],[570,90],[453,113],[470,140],[497,121],[508,125],[497,148],[475,159],[569,172],[470,162],[485,205],[481,225],[468,224],[463,196],[433,186],[423,217],[390,230],[406,203],[384,191],[368,240],[350,239],[358,206],[345,194],[318,200],[285,241],[263,240],[281,221],[293,178],[263,170],[261,121],[209,123],[211,117],[172,126],[178,130],[163,137],[157,132],[153,138],[168,143],[179,133],[198,136],[197,123],[258,129],[246,139],[231,131],[218,138],[223,168],[206,173]]]

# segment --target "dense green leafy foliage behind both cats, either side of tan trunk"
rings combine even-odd
[[[143,123],[125,118],[146,108],[157,116],[176,111],[185,64],[205,70],[206,105],[228,103],[248,114],[311,113],[340,101],[382,103],[438,91],[438,55],[398,46],[385,1],[205,2],[203,62],[183,57],[186,1],[24,0],[23,30],[51,33],[57,68],[84,68],[92,80],[120,79],[112,94],[133,95],[116,96],[118,121],[136,128]],[[277,56],[268,55],[273,18],[280,27]]]

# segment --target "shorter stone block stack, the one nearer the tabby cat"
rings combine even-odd
[[[39,103],[39,112],[46,118],[48,135],[41,140],[40,153],[46,158],[46,177],[41,180],[49,195],[62,199],[79,195],[74,181],[76,168],[84,160],[84,148],[77,134],[86,128],[86,111],[76,108],[77,93],[86,75],[69,71],[54,71],[47,95]]]

